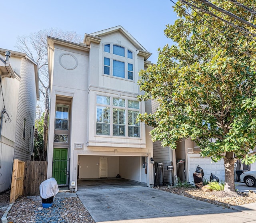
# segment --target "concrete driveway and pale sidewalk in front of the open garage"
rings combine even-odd
[[[150,187],[79,190],[76,194],[96,222],[256,222],[253,209],[240,212]]]

